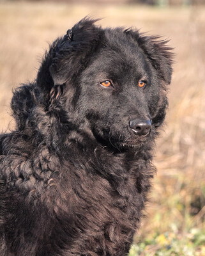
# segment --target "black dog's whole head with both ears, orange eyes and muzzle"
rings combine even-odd
[[[37,84],[50,113],[60,105],[69,122],[88,125],[97,140],[135,147],[153,138],[165,118],[171,48],[155,36],[102,29],[95,21],[81,20],[51,45]]]

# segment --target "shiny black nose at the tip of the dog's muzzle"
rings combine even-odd
[[[134,119],[130,120],[129,125],[135,135],[147,135],[151,129],[150,120]]]

